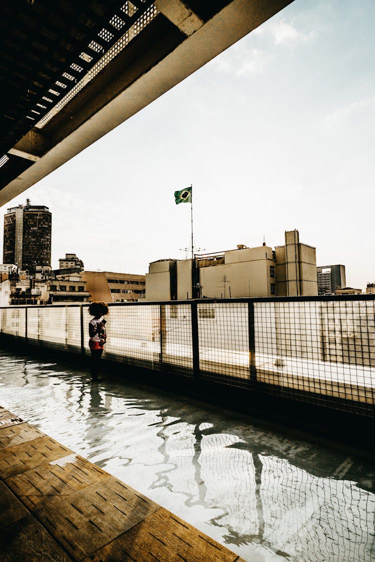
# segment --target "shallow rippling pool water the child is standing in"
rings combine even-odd
[[[202,398],[0,352],[2,406],[243,559],[375,560],[370,461]]]

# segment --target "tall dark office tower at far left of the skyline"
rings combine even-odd
[[[48,207],[19,205],[4,216],[3,263],[18,264],[34,274],[38,265],[51,266],[52,219]]]

